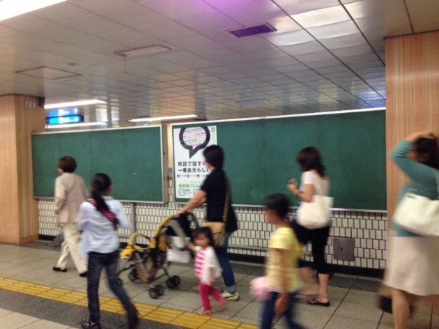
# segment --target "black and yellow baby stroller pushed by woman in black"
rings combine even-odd
[[[145,236],[141,233],[135,233],[130,236],[128,245],[121,252],[121,259],[125,260],[121,270],[117,275],[126,270],[130,270],[128,273],[128,279],[131,282],[140,280],[145,284],[148,284],[149,296],[153,299],[162,296],[164,293],[164,286],[162,284],[154,285],[153,282],[167,277],[166,285],[169,289],[176,288],[181,279],[177,275],[171,277],[168,272],[170,262],[167,260],[167,251],[169,248],[186,250],[185,245],[176,247],[171,244],[171,237],[178,236],[183,240],[193,240],[194,231],[199,228],[197,219],[192,213],[187,215],[172,215],[167,217],[155,230],[152,238]],[[136,244],[138,237],[144,238],[144,247]],[[163,270],[161,275],[157,275],[159,270]],[[119,278],[119,282],[122,280]]]

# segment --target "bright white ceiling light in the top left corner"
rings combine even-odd
[[[0,21],[64,1],[66,0],[3,0],[0,1]]]

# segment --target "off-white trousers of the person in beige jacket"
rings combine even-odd
[[[66,223],[63,226],[63,233],[64,242],[61,245],[61,257],[59,257],[56,266],[59,268],[66,268],[70,254],[78,273],[86,272],[86,259],[79,258],[79,250],[81,250],[81,232],[78,231],[75,223]]]

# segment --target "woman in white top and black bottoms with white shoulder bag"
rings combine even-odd
[[[314,194],[321,194],[328,196],[329,194],[329,178],[325,175],[325,166],[323,166],[321,155],[315,147],[303,148],[298,153],[297,162],[302,169],[302,177],[300,178],[301,185],[298,188],[297,183],[288,184],[288,190],[296,195],[301,202],[311,202]],[[320,286],[318,292],[310,293],[307,289],[314,283],[311,268],[306,267],[304,261],[299,262],[300,272],[305,283],[310,286],[305,287],[305,295],[309,298],[307,302],[311,305],[326,306],[330,305],[328,298],[328,284],[329,284],[329,268],[325,261],[325,247],[328,243],[328,236],[330,233],[329,222],[328,226],[318,229],[307,229],[300,225],[297,220],[293,222],[293,228],[300,243],[306,245],[308,241],[311,242],[312,257],[314,259],[314,268],[318,273],[318,281]]]

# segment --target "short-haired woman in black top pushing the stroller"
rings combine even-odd
[[[224,152],[222,148],[217,145],[211,145],[204,149],[204,158],[206,160],[206,167],[211,171],[201,185],[200,190],[189,202],[181,209],[180,213],[187,213],[192,209],[207,204],[206,218],[209,222],[222,222],[224,215],[224,204],[226,202],[227,177],[222,169],[224,164]],[[229,187],[229,194],[230,187]],[[230,198],[231,200],[231,198]],[[222,268],[222,278],[226,284],[226,290],[222,293],[224,298],[228,300],[239,300],[239,293],[237,291],[235,276],[229,261],[229,254],[227,252],[230,235],[238,229],[235,213],[229,201],[229,210],[227,212],[226,222],[226,244],[224,247],[215,248],[215,253]]]

